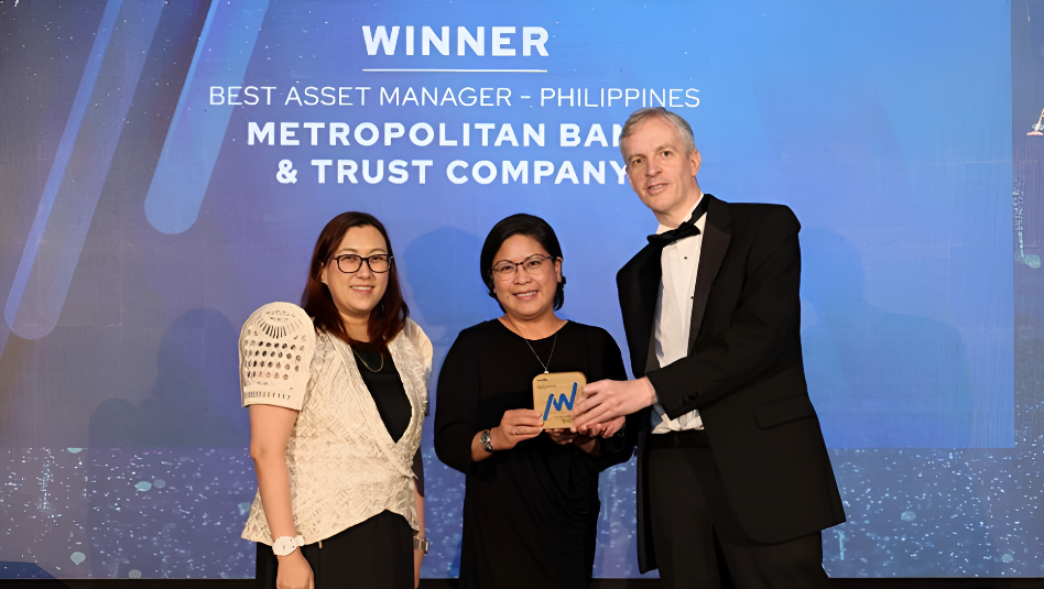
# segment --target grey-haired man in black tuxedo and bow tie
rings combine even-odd
[[[617,274],[635,380],[588,384],[573,415],[640,412],[639,567],[668,588],[826,587],[819,532],[845,512],[802,366],[797,218],[703,194],[663,108],[631,114],[620,150],[660,221]]]

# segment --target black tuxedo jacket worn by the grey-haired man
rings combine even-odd
[[[801,352],[801,225],[780,205],[711,195],[693,298],[688,356],[646,371],[660,288],[660,249],[617,274],[634,378],[648,377],[671,418],[699,410],[729,504],[747,538],[776,544],[845,521]],[[638,543],[657,568],[649,530],[640,416]]]

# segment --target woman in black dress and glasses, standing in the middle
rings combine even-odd
[[[586,587],[595,563],[598,473],[626,461],[623,419],[580,433],[542,428],[533,378],[626,378],[599,327],[555,315],[562,248],[543,219],[514,215],[490,231],[482,280],[504,314],[460,332],[443,363],[435,451],[467,475],[460,588]]]

